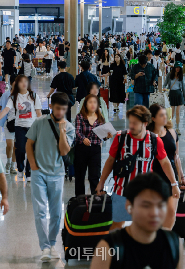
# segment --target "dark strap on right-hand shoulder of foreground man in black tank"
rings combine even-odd
[[[170,250],[171,250],[171,256],[173,259],[173,266],[174,268],[177,267],[177,264],[179,262],[179,237],[176,233],[174,232],[170,232],[167,230],[162,230],[163,233],[165,234],[167,241],[169,243],[170,246]]]

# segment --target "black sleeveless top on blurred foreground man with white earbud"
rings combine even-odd
[[[169,242],[161,229],[157,231],[155,240],[150,244],[141,244],[135,241],[125,229],[121,229],[121,235],[124,244],[124,258],[121,268],[175,269]],[[175,234],[175,236],[177,235]],[[103,239],[108,242],[110,247],[114,248],[110,234]]]

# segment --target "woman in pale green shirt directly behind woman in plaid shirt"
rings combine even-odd
[[[105,101],[103,100],[103,97],[101,97],[100,94],[100,87],[96,82],[90,82],[87,85],[87,94],[94,94],[98,97],[99,101],[100,101],[100,112],[103,115],[103,117],[105,118],[105,123],[109,122],[109,118],[108,118],[108,108],[107,105],[105,103]],[[81,110],[83,103],[84,103],[85,97],[80,101],[80,105],[79,105],[79,109],[78,111]]]

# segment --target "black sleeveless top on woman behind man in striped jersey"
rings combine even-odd
[[[178,138],[177,133],[176,133],[176,135],[177,135],[177,139],[176,139],[176,142],[177,142],[179,140],[179,138]],[[171,162],[175,176],[177,178],[177,171],[176,171],[175,162],[174,162],[174,155],[175,155],[175,151],[177,149],[175,140],[168,130],[167,130],[166,135],[161,137],[161,139],[164,143],[164,149],[167,153],[168,159]],[[170,192],[172,195],[172,187],[170,184],[170,180],[167,178],[166,174],[163,172],[162,167],[156,158],[154,159],[154,163],[153,163],[153,171],[158,173],[169,184]]]

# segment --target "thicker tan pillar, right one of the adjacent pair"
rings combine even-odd
[[[70,73],[78,73],[78,0],[70,0]]]

